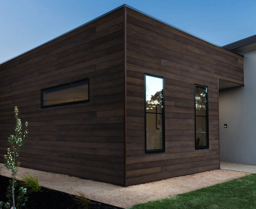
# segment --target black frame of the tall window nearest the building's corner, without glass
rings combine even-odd
[[[157,149],[157,150],[147,150],[147,101],[146,101],[146,76],[151,77],[157,77],[163,79],[163,149]],[[144,73],[144,135],[145,135],[145,154],[154,154],[154,153],[165,153],[165,87],[164,87],[164,80],[165,78],[163,76],[158,76],[154,74]]]

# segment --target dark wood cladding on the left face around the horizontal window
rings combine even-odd
[[[41,109],[41,89],[90,78],[90,103]],[[124,185],[124,8],[0,66],[0,162],[14,106],[22,166]]]

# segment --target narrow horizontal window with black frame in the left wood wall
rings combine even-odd
[[[41,108],[89,102],[89,78],[41,90]]]

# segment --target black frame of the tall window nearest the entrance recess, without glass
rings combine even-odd
[[[194,84],[194,99],[196,94],[196,86],[207,88],[207,106],[206,106],[206,117],[207,117],[207,146],[196,146],[196,101],[195,101],[195,150],[201,150],[201,149],[209,149],[209,88],[208,86],[201,85],[201,84]]]

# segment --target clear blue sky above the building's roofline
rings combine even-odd
[[[256,34],[255,0],[0,0],[0,63],[124,3],[220,46]]]

